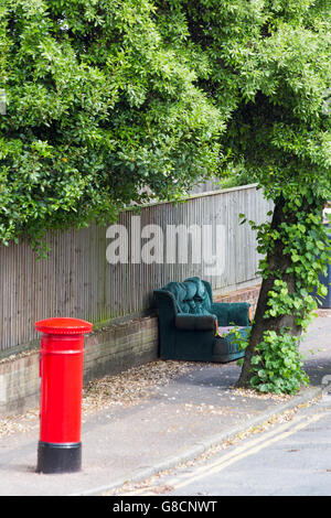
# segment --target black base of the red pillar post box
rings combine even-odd
[[[72,473],[82,467],[82,443],[51,443],[39,441],[38,473]]]

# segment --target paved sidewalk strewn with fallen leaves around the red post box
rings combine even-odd
[[[302,353],[311,385],[291,398],[253,396],[233,388],[235,364],[192,364],[127,408],[110,406],[84,417],[82,471],[35,473],[39,427],[0,439],[0,495],[103,495],[194,458],[207,447],[321,395],[331,375],[331,311],[311,324]],[[310,353],[313,350],[313,354]]]

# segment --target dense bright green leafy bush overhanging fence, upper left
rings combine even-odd
[[[217,109],[145,0],[3,0],[0,240],[111,220],[215,169]]]

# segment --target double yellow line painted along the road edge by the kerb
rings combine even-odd
[[[205,476],[218,473],[232,464],[235,464],[236,462],[239,462],[249,455],[254,455],[255,453],[258,453],[271,444],[292,435],[299,430],[309,427],[310,424],[319,421],[319,419],[321,419],[323,416],[324,413],[316,413],[310,418],[307,418],[306,416],[296,417],[289,422],[277,425],[276,429],[270,430],[269,432],[263,432],[263,435],[259,438],[253,439],[248,442],[245,441],[244,444],[236,446],[231,452],[222,455],[222,457],[217,458],[217,461],[209,463],[204,466],[196,467],[194,473],[188,473],[179,475],[175,478],[168,479],[167,486],[170,486],[172,490],[178,490],[184,486],[188,486],[189,484],[201,481]],[[140,488],[126,493],[125,495],[152,496],[154,493],[151,492],[151,488]]]

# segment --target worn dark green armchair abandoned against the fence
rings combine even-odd
[[[245,355],[231,331],[236,326],[247,336],[247,302],[214,302],[210,282],[197,277],[169,282],[154,298],[161,358],[227,363]]]

